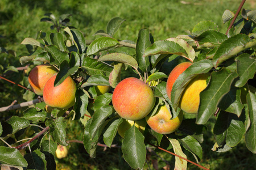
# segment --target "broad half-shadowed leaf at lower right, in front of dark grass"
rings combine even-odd
[[[245,116],[237,117],[236,114],[221,111],[218,114],[213,133],[219,147],[225,143],[229,147],[237,146],[245,133]]]

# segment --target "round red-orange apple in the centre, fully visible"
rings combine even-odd
[[[130,77],[117,84],[113,92],[112,103],[119,116],[136,121],[150,113],[155,105],[155,97],[146,83]]]

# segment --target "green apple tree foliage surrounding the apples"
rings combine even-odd
[[[122,118],[113,109],[112,93],[97,95],[94,86],[109,85],[115,88],[121,74],[127,69],[134,70],[133,76],[148,84],[152,80],[158,81],[152,87],[154,96],[164,101],[172,118],[180,112],[179,100],[185,86],[196,75],[210,73],[208,86],[200,94],[196,118],[185,118],[178,133],[163,136],[147,127],[147,133],[142,134],[135,126],[126,131],[121,147],[123,159],[131,168],[142,169],[145,166],[146,145],[161,146],[166,142],[168,145],[163,147],[167,150],[172,148],[175,154],[183,158],[187,157],[184,153],[192,154],[199,163],[203,158],[203,134],[213,116],[217,116],[216,123],[213,129],[208,129],[213,130],[216,138],[213,151],[229,151],[244,140],[247,149],[255,154],[255,11],[242,10],[228,35],[220,32],[216,23],[203,21],[196,24],[188,35],[167,40],[155,41],[150,29],[141,29],[136,43],[113,37],[125,22],[119,17],[111,19],[106,30],[96,32],[100,38],[87,43],[79,29],[63,27],[69,14],[60,16],[59,22],[52,15],[48,16],[42,20],[53,22],[52,28],[57,31],[40,31],[36,39],[24,39],[22,44],[31,53],[20,57],[20,63],[49,63],[56,66],[59,70],[56,86],[71,76],[78,87],[76,103],[62,117],[47,113],[45,104],[38,103],[26,109],[22,116],[2,121],[1,164],[19,169],[55,169],[57,143],[68,145],[65,140],[68,124],[64,120],[69,117],[84,125],[82,142],[91,158],[96,157],[98,142],[102,138],[106,146],[112,146],[114,138],[118,137],[117,129]],[[229,24],[233,16],[233,12],[226,10],[222,19]],[[177,78],[172,100],[169,100],[166,78],[171,70],[166,68],[184,61],[193,64]],[[155,105],[156,108],[159,106],[159,103]],[[31,142],[20,142],[24,131],[33,125],[44,130],[37,128],[30,136]],[[22,156],[18,149],[26,146],[30,150],[26,150]],[[176,157],[175,168],[187,169],[187,161]]]

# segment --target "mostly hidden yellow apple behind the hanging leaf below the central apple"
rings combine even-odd
[[[139,129],[139,131],[141,131],[141,133],[144,133],[144,130],[146,128],[147,122],[146,120],[143,118],[141,120],[138,121],[131,121],[131,120],[123,120],[123,122],[118,126],[118,134],[124,138],[125,137],[125,131],[130,129],[131,126],[133,126],[135,124],[135,126]]]

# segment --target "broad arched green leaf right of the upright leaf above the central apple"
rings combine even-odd
[[[177,54],[188,58],[188,54],[182,46],[168,40],[156,41],[151,46],[148,46],[144,52],[144,57],[155,54]]]

